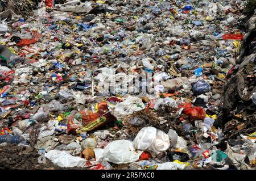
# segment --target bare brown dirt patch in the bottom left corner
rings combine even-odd
[[[7,145],[0,147],[0,170],[28,169],[28,170],[84,170],[82,168],[63,168],[54,165],[46,158],[46,163],[38,163],[38,151],[26,146]]]

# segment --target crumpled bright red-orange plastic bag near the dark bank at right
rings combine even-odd
[[[203,107],[193,107],[183,110],[185,115],[190,116],[191,120],[204,120],[206,112]]]

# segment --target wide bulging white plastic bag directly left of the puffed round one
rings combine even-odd
[[[115,140],[110,142],[103,152],[103,158],[115,164],[125,164],[138,161],[142,151],[136,151],[133,142]]]

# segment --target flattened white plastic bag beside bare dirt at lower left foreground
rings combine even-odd
[[[66,151],[50,150],[46,153],[46,158],[60,167],[84,167],[85,159],[80,157],[73,157]]]

